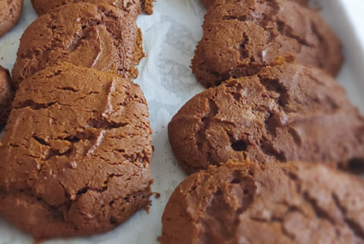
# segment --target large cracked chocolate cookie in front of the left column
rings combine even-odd
[[[62,66],[16,93],[0,147],[0,215],[36,238],[109,231],[150,205],[151,129],[138,85]]]

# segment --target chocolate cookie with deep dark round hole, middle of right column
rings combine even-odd
[[[265,67],[207,89],[168,129],[187,173],[246,158],[364,165],[364,118],[335,79],[299,64]]]

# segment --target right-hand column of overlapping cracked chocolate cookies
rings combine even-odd
[[[169,123],[191,175],[161,243],[364,243],[364,181],[339,171],[364,163],[364,118],[333,78],[340,41],[293,1],[202,2],[191,68],[210,88]]]

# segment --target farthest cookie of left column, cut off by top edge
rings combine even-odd
[[[33,8],[38,15],[44,15],[54,8],[71,3],[92,3],[92,4],[110,4],[128,12],[134,19],[141,13],[140,0],[31,0]]]

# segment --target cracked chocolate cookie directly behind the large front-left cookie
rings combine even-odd
[[[67,4],[40,16],[20,39],[13,83],[58,62],[136,77],[144,56],[134,19],[111,5]]]

